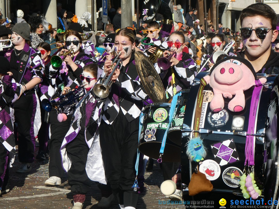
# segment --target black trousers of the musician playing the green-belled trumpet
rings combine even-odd
[[[71,125],[72,115],[67,115],[67,120],[59,122],[57,120],[57,111],[50,112],[50,141],[49,141],[49,177],[57,176],[62,178],[64,169],[62,167],[62,159],[60,148],[63,139]]]

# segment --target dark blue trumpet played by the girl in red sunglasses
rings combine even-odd
[[[80,87],[74,89],[74,91],[70,91],[69,93],[59,96],[51,101],[48,99],[43,99],[42,108],[47,112],[50,112],[52,108],[55,108],[58,112],[62,113],[62,108],[64,106],[75,105],[76,100],[81,99],[85,95],[85,89],[83,88],[85,85],[86,84],[83,84]]]

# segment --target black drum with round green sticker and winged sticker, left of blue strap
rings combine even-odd
[[[169,125],[170,103],[152,103],[143,110],[143,125],[140,131],[138,149],[148,157],[157,160],[160,156],[163,136]],[[180,146],[166,139],[162,161],[180,162]]]

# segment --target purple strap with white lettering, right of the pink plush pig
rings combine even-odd
[[[256,123],[256,115],[258,112],[258,103],[261,95],[261,91],[263,89],[263,86],[259,82],[259,80],[255,81],[256,86],[253,90],[252,99],[251,99],[251,105],[250,105],[250,114],[249,114],[249,123],[248,123],[248,134],[254,134],[255,130],[255,123]],[[260,84],[260,86],[258,86]],[[246,145],[245,145],[245,164],[248,166],[255,165],[254,162],[254,150],[255,150],[255,141],[254,137],[252,135],[246,136]],[[248,163],[248,164],[247,164]]]

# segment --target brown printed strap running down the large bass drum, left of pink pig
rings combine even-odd
[[[201,79],[201,85],[199,86],[199,91],[198,91],[198,97],[196,101],[196,112],[195,112],[195,121],[194,121],[194,131],[199,130],[199,122],[201,118],[201,108],[203,105],[203,89],[206,86],[206,81],[204,79]],[[198,137],[199,133],[194,132],[194,137]]]

